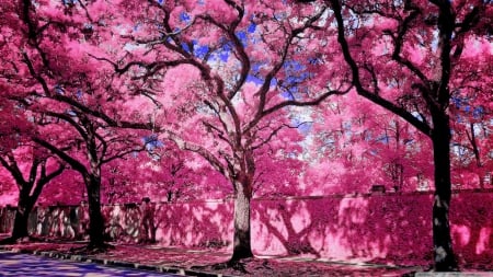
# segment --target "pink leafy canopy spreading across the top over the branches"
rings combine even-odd
[[[429,9],[424,1],[415,4]],[[457,2],[454,7],[460,8]],[[429,147],[428,141],[402,122],[397,126],[390,114],[358,101],[357,95],[328,99],[318,109],[283,107],[271,113],[270,108],[288,100],[312,101],[329,89],[344,90],[352,84],[330,9],[314,18],[322,7],[293,1],[92,1],[85,7],[77,1],[69,5],[38,1],[30,14],[39,28],[39,38],[37,45],[31,45],[28,26],[16,8],[8,3],[1,8],[0,51],[13,61],[2,66],[1,93],[19,96],[35,92],[36,96],[30,99],[31,111],[25,114],[2,107],[5,125],[0,130],[14,134],[10,138],[18,134],[13,127],[27,131],[30,120],[46,119],[46,112],[67,114],[67,120],[78,122],[77,109],[89,115],[100,128],[98,134],[112,134],[112,139],[137,138],[146,131],[108,129],[99,113],[118,124],[150,124],[151,131],[171,129],[183,141],[207,150],[222,169],[228,163],[241,168],[253,149],[254,174],[259,182],[272,186],[276,178],[283,185],[296,186],[296,174],[303,171],[311,176],[307,180],[318,183],[313,191],[319,192],[329,192],[324,187],[328,183],[362,191],[370,182],[391,185],[386,171],[394,160],[405,166],[409,184],[419,174],[429,178],[431,172],[423,170],[429,168],[429,154],[421,151]],[[381,12],[356,18],[354,12],[366,8]],[[393,2],[366,8],[356,4],[346,19],[352,24],[352,30],[346,30],[349,53],[359,67],[363,88],[426,118],[428,114],[422,111],[426,103],[415,84],[423,77],[442,72],[435,57],[438,45],[433,16],[426,18],[427,25],[421,22],[422,15],[410,19],[409,32],[399,38],[412,9]],[[463,18],[467,12],[457,14]],[[452,62],[458,66],[451,71],[450,90],[469,97],[480,95],[473,105],[490,111],[493,104],[486,84],[493,47],[480,33],[456,38],[452,49],[460,49],[462,38],[463,49]],[[408,67],[392,57],[397,49]],[[419,71],[423,76],[416,76]],[[64,101],[54,97],[61,97],[54,89],[57,85],[67,97]],[[59,120],[61,124],[53,119],[50,127],[36,128],[57,143],[74,143],[77,130],[68,128],[67,120]],[[307,138],[309,132],[301,127],[289,128],[302,120],[314,122],[310,125],[314,138]],[[467,115],[467,120],[479,119]],[[456,132],[465,134],[462,127],[457,125]],[[15,140],[5,137],[2,143],[15,147]],[[490,145],[485,137],[481,154]],[[84,160],[83,145],[70,151]],[[320,155],[320,164],[306,170],[308,161],[300,157],[307,152]],[[187,168],[202,171],[205,161],[194,157]],[[270,171],[275,177],[261,176],[260,172]],[[375,177],[360,178],[368,172]]]

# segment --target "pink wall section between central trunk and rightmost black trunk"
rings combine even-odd
[[[428,262],[431,208],[429,195],[257,201],[253,235],[265,240],[255,241],[254,249],[259,254]]]

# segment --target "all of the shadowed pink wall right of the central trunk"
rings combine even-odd
[[[433,255],[432,198],[431,194],[391,194],[257,199],[253,249],[257,255],[427,265]],[[461,192],[451,207],[459,262],[490,266],[493,194]]]

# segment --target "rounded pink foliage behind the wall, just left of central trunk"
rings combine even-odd
[[[113,161],[102,174],[106,176],[103,191],[107,203],[140,201],[142,196],[152,201],[221,198],[230,188],[200,157],[170,141],[157,141],[147,151]]]

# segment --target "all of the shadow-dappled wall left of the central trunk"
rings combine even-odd
[[[223,247],[233,234],[232,203],[222,200],[151,204],[152,219],[138,204],[102,207],[105,240],[125,243],[158,242],[162,245]],[[12,231],[15,208],[0,208],[3,233]],[[87,205],[36,207],[28,221],[30,234],[87,239]]]

